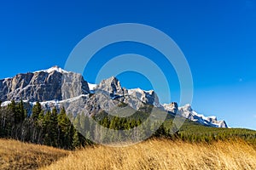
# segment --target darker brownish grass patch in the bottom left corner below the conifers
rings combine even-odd
[[[68,151],[26,144],[17,140],[0,139],[0,169],[37,169],[67,156]]]

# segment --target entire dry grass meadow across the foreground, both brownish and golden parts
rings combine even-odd
[[[0,169],[256,169],[256,149],[241,139],[208,143],[148,139],[125,147],[67,151],[0,140]]]

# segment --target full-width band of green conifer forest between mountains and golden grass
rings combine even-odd
[[[32,107],[32,113],[27,114],[25,105],[27,104],[22,100],[20,103],[12,101],[2,108],[0,105],[0,138],[18,139],[67,150],[92,144],[89,139],[115,143],[129,142],[129,139],[137,141],[137,137],[147,139],[150,136],[207,143],[239,138],[249,144],[256,144],[256,131],[248,129],[204,127],[187,120],[177,131],[172,118],[167,118],[162,124],[155,120],[150,122],[147,112],[137,111],[128,118],[111,116],[104,111],[90,117],[84,113],[73,116],[73,113],[67,114],[64,108],[59,112],[56,108],[43,111],[37,102]],[[110,130],[104,131],[105,127]],[[134,130],[129,131],[130,129]]]

